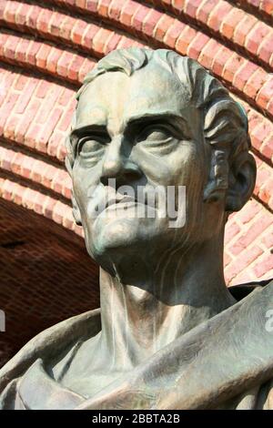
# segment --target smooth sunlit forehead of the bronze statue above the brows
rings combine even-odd
[[[107,72],[97,76],[80,96],[77,124],[105,122],[147,114],[179,115],[188,104],[187,88],[162,66],[146,66],[132,76]]]

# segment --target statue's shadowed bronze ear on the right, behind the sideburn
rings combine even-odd
[[[227,211],[239,211],[253,193],[257,167],[253,156],[248,152],[238,154],[229,167],[226,199]]]

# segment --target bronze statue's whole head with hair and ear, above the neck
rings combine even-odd
[[[129,48],[98,61],[76,98],[66,168],[89,254],[113,270],[126,256],[223,245],[227,216],[248,201],[256,178],[248,118],[227,89],[187,56]],[[172,227],[157,192],[147,202],[147,189],[167,187],[175,189]],[[139,206],[150,215],[137,216]]]

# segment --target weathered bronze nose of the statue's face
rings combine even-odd
[[[106,186],[108,178],[116,178],[116,184],[122,186],[140,178],[140,168],[125,155],[122,138],[113,138],[103,161],[101,182]]]

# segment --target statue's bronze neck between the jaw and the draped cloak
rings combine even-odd
[[[102,346],[113,367],[135,366],[235,303],[219,248],[210,242],[177,252],[163,269],[136,258],[134,269],[130,258],[116,276],[100,271]]]

